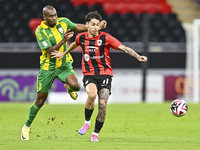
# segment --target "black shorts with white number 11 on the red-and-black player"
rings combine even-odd
[[[86,87],[89,83],[94,83],[97,86],[98,91],[103,88],[106,88],[109,91],[111,91],[111,82],[112,82],[112,77],[109,75],[96,75],[96,76],[86,75],[83,78],[84,87]]]

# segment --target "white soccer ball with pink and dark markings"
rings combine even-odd
[[[170,104],[170,111],[176,117],[182,117],[187,113],[187,103],[182,99],[175,99]]]

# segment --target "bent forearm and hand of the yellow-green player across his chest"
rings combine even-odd
[[[46,49],[47,52],[51,55],[51,53],[52,53],[53,51],[59,50],[60,47],[61,47],[65,42],[67,42],[73,35],[74,35],[74,32],[70,32],[70,29],[67,30],[66,32],[64,32],[64,37],[63,37],[63,39],[62,39],[57,45],[48,47],[48,48]]]

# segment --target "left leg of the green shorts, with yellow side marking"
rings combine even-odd
[[[55,71],[40,70],[37,76],[37,92],[48,93],[55,77]]]

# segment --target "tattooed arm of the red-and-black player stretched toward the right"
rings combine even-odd
[[[124,46],[123,44],[118,47],[118,50],[123,51],[123,52],[129,54],[132,57],[137,58],[137,60],[139,60],[139,61],[144,61],[144,62],[147,61],[146,56],[140,56],[133,49],[131,49],[130,47]]]

